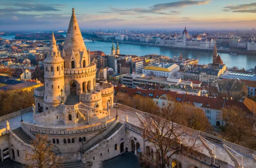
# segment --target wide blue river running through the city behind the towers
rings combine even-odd
[[[2,36],[1,38],[12,39],[12,36]],[[105,52],[106,54],[111,53],[111,42],[101,42],[95,41],[92,42],[90,40],[84,40],[85,45],[90,48],[90,51],[100,50]],[[194,50],[186,50],[186,49],[171,49],[165,47],[152,47],[152,46],[144,46],[144,45],[135,45],[135,44],[120,44],[120,54],[129,54],[129,55],[137,55],[137,56],[145,56],[147,54],[157,54],[164,55],[173,58],[174,56],[179,56],[181,53],[183,57],[195,58],[198,59],[198,64],[208,64],[213,61],[213,53],[205,52],[205,51],[194,51]],[[227,67],[237,66],[238,68],[245,68],[248,70],[250,68],[254,68],[256,66],[256,55],[249,54],[237,54],[230,55],[228,53],[219,53],[223,62],[227,65]]]

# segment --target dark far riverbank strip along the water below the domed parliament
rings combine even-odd
[[[100,39],[100,38],[93,38],[93,39],[94,39],[94,41],[113,42],[112,40],[105,40],[105,39]],[[114,42],[117,42],[117,41],[114,41]],[[162,48],[170,48],[170,49],[184,49],[184,50],[213,52],[212,48],[209,48],[209,49],[196,49],[196,48],[172,47],[172,46],[166,46],[166,45],[150,45],[148,43],[126,42],[126,41],[122,41],[122,42],[119,42],[119,43],[120,44],[143,45],[143,46],[151,46],[151,47],[162,47]],[[249,54],[249,55],[255,55],[256,56],[256,51],[241,51],[239,49],[217,49],[217,50],[220,53],[234,52],[234,53],[237,53],[237,54]]]

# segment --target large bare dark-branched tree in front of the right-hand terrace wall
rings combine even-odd
[[[151,115],[144,118],[141,127],[144,128],[143,137],[146,148],[149,146],[154,150],[146,151],[146,154],[141,157],[143,163],[149,163],[158,168],[172,168],[170,159],[181,159],[185,156],[182,153],[197,154],[195,151],[199,147],[197,137],[187,133],[186,127],[168,120],[175,117],[173,110],[165,109],[162,110],[161,117]],[[197,151],[200,149],[198,148]]]

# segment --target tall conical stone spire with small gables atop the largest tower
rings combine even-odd
[[[75,9],[72,8],[72,16],[67,30],[67,36],[62,50],[62,58],[65,60],[65,68],[82,68],[90,66],[86,46],[79,29]]]

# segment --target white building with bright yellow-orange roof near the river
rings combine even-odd
[[[151,66],[146,66],[142,69],[142,73],[146,76],[155,77],[176,77],[177,72],[180,70],[180,66],[177,64],[153,64]]]

